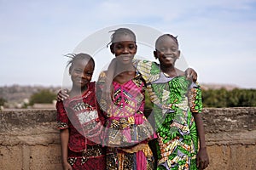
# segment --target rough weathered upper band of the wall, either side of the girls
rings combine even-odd
[[[207,144],[255,144],[256,107],[206,108]],[[59,144],[55,110],[0,111],[0,144]]]

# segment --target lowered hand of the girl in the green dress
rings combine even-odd
[[[205,169],[209,165],[209,157],[207,154],[207,148],[201,148],[196,156],[196,167],[199,169]]]

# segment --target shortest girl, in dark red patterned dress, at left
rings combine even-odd
[[[95,63],[88,54],[69,57],[73,87],[69,98],[56,104],[62,167],[105,170],[105,151],[99,144],[104,118],[96,103],[95,82],[90,82]]]

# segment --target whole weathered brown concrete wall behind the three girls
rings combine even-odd
[[[61,170],[55,110],[0,111],[1,170]],[[256,108],[204,109],[212,169],[256,169]]]

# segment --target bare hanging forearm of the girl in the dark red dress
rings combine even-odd
[[[71,165],[67,162],[67,156],[68,156],[68,139],[69,139],[69,131],[68,128],[61,129],[60,133],[61,138],[61,161],[62,161],[62,167],[64,170],[72,170]]]

